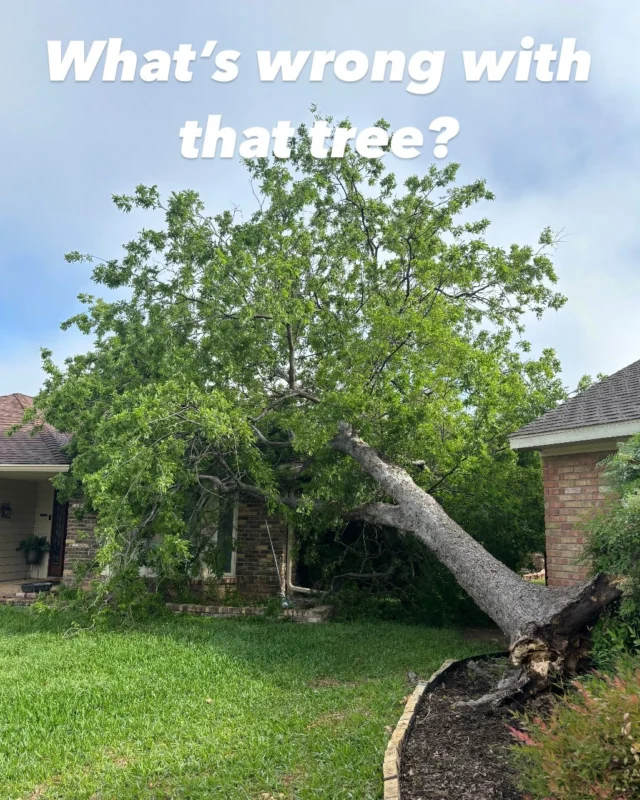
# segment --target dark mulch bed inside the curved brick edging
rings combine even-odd
[[[474,664],[456,669],[425,697],[402,753],[403,800],[522,800],[507,729],[513,711],[453,707],[495,688],[506,669],[503,659]]]

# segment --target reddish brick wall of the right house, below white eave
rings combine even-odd
[[[573,453],[542,458],[549,586],[571,586],[587,575],[587,567],[576,563],[585,544],[580,525],[604,500],[598,464],[607,455]]]

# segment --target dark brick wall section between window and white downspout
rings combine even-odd
[[[280,593],[269,532],[282,580],[285,577],[287,551],[287,528],[284,520],[268,516],[261,502],[240,503],[236,531],[236,576],[241,597],[270,597]]]

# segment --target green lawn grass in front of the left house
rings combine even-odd
[[[380,798],[407,671],[490,649],[378,622],[68,629],[0,607],[2,800]]]

